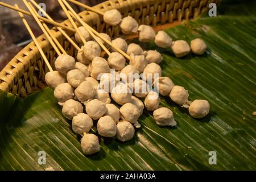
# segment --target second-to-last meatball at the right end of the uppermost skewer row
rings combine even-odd
[[[172,52],[176,57],[184,57],[190,52],[190,47],[184,40],[176,40],[172,42]]]

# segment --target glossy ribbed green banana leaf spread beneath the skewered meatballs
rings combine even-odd
[[[0,92],[0,170],[255,170],[255,5],[229,1],[217,6],[217,17],[204,14],[166,30],[174,40],[202,38],[208,45],[203,56],[177,59],[154,43],[142,45],[162,52],[163,75],[184,86],[191,100],[209,101],[206,118],[194,119],[161,97],[160,105],[174,111],[176,127],[159,127],[144,111],[132,140],[100,137],[101,151],[85,156],[53,90],[24,99]],[[38,163],[39,151],[46,152],[46,164]],[[217,164],[209,164],[210,151]]]

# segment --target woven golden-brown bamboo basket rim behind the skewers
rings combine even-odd
[[[110,0],[97,6],[102,12],[117,9],[122,16],[133,16],[139,24],[147,24],[152,27],[158,24],[167,24],[195,18],[208,9],[208,5],[217,0]],[[121,30],[118,26],[112,27],[104,23],[101,15],[91,11],[82,11],[81,18],[92,26],[98,32],[106,32],[110,37],[121,36]],[[66,26],[72,27],[69,20],[62,22]],[[76,49],[68,40],[52,28],[53,35],[61,43],[71,56],[76,56]],[[74,32],[66,31],[72,39]],[[37,38],[42,46],[53,69],[56,59],[56,52],[43,34]],[[48,72],[42,57],[36,48],[35,43],[31,42],[24,47],[5,68],[0,72],[0,89],[11,92],[20,97],[26,97],[35,90],[42,89],[46,86],[44,75]]]

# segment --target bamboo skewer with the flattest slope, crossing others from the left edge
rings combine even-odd
[[[26,14],[26,15],[29,15],[29,16],[32,16],[30,12],[26,11],[26,10],[22,10],[18,7],[15,7],[15,6],[11,6],[11,5],[8,5],[4,2],[0,2],[0,5],[2,6],[5,6],[9,9],[12,9],[12,10],[15,10],[15,11],[19,11],[20,13],[23,13],[23,14]],[[39,16],[38,14],[36,14],[36,16],[40,19],[40,20],[43,20],[44,22],[47,22],[47,23],[50,23],[50,24],[53,24],[54,26],[57,26],[57,27],[61,27],[61,28],[65,28],[66,30],[69,30],[69,31],[72,31],[72,32],[76,32],[75,29],[71,28],[71,27],[67,27],[61,23],[57,23],[57,22],[54,22],[52,20],[49,20],[47,18],[43,18],[42,16]]]

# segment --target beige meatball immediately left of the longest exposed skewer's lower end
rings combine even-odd
[[[125,67],[125,57],[119,52],[112,52],[108,58],[109,67],[120,71]]]

